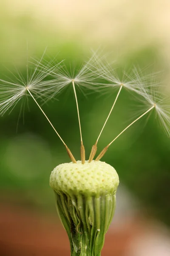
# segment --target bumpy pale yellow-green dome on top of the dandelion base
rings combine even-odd
[[[63,163],[50,176],[50,186],[57,192],[77,195],[103,195],[113,193],[119,185],[116,170],[101,161],[82,164]]]

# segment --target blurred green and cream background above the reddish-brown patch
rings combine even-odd
[[[148,67],[147,73],[163,70],[164,90],[170,95],[170,18],[166,12],[170,4],[163,1],[159,8],[159,1],[154,6],[151,2],[147,1],[146,10],[143,1],[138,2],[139,8],[132,0],[128,5],[124,1],[1,1],[0,79],[13,79],[8,71],[13,65],[26,75],[27,42],[29,56],[40,58],[48,46],[45,58],[58,54],[58,60],[66,58],[68,68],[87,60],[91,48],[102,47],[122,69],[130,71],[137,65]],[[129,123],[128,95],[123,92],[119,97],[99,140],[99,151]],[[77,96],[88,156],[116,92],[109,96],[92,93],[87,98],[78,92]],[[43,105],[43,110],[78,160],[74,94],[64,90],[57,99]],[[20,104],[0,118],[0,201],[56,214],[49,175],[69,158],[33,100],[18,121],[19,113]],[[145,121],[116,140],[102,160],[117,170],[120,182],[139,201],[140,209],[170,226],[170,139],[153,114],[144,126]]]

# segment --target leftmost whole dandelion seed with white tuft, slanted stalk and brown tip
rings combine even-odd
[[[42,58],[43,58],[43,55],[42,55]],[[28,92],[29,95],[32,97],[32,99],[34,99],[34,102],[37,104],[37,106],[40,108],[40,110],[44,114],[45,118],[50,123],[51,127],[56,132],[59,139],[65,145],[66,151],[68,152],[68,156],[70,157],[71,161],[73,163],[77,163],[70,149],[62,140],[59,133],[54,128],[51,121],[48,119],[48,117],[46,116],[46,114],[44,113],[44,111],[42,110],[42,108],[40,107],[40,105],[36,100],[36,98],[40,98],[42,100],[48,98],[48,88],[51,87],[51,81],[44,81],[44,79],[51,74],[53,69],[56,70],[57,66],[59,66],[60,64],[59,63],[55,65],[53,68],[50,68],[48,72],[44,73],[44,72],[41,72],[41,70],[38,70],[38,67],[40,67],[42,58],[40,59],[36,67],[33,70],[31,70],[32,72],[30,74],[28,71],[28,63],[27,63],[26,79],[24,79],[20,73],[18,73],[18,76],[14,75],[15,79],[17,80],[17,83],[0,79],[2,83],[0,84],[0,114],[3,115],[11,107],[13,109],[17,105],[17,103],[20,101],[20,99],[23,99],[24,96],[26,97],[28,96],[27,94]],[[33,96],[32,93],[35,96]]]

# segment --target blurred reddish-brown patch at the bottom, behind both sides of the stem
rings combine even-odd
[[[66,256],[70,255],[67,234],[56,216],[23,207],[3,204],[0,207],[0,256]],[[103,256],[123,256],[141,224],[108,231]]]

